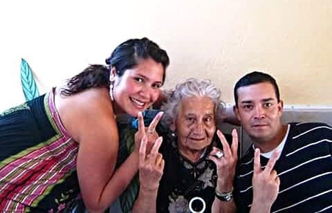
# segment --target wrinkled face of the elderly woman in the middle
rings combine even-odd
[[[214,103],[207,97],[185,98],[178,106],[175,128],[180,151],[203,151],[210,145],[216,123]]]

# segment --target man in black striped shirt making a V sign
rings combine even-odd
[[[266,73],[249,73],[234,86],[234,113],[252,140],[234,180],[237,210],[332,212],[332,128],[282,124],[279,96]]]

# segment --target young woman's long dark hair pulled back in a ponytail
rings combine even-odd
[[[138,64],[138,59],[154,59],[161,63],[164,68],[163,82],[165,81],[165,69],[169,65],[169,57],[165,50],[158,44],[147,39],[129,39],[120,44],[111,57],[105,60],[108,66],[92,64],[68,80],[67,88],[62,89],[62,95],[73,95],[93,87],[109,88],[111,82],[109,75],[111,68],[116,68],[116,75],[122,76],[123,73]]]

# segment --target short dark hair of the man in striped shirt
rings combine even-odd
[[[234,100],[235,100],[235,105],[238,107],[237,101],[239,100],[239,97],[237,95],[237,90],[242,87],[242,86],[250,86],[252,84],[259,84],[259,83],[265,83],[269,82],[272,84],[273,88],[275,89],[275,96],[277,97],[277,102],[279,103],[280,101],[280,93],[279,93],[279,87],[277,85],[277,82],[275,79],[266,73],[261,73],[261,72],[252,72],[244,75],[241,77],[239,81],[237,81],[237,84],[234,86]]]

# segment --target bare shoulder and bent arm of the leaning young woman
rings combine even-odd
[[[89,212],[102,212],[138,172],[138,151],[115,172],[118,129],[107,89],[90,89],[58,101],[62,122],[79,145],[77,176]]]

